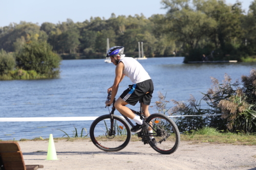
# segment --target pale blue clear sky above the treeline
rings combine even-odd
[[[242,8],[247,12],[253,0],[243,0]],[[234,4],[236,0],[226,0],[226,4]],[[20,21],[37,23],[64,22],[67,18],[74,22],[90,20],[91,17],[109,19],[112,13],[134,16],[143,14],[165,14],[161,0],[0,0],[0,27]]]

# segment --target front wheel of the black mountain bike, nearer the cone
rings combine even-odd
[[[131,139],[131,130],[125,120],[117,115],[113,115],[113,118],[112,129],[109,114],[95,119],[90,128],[92,142],[106,152],[122,150]]]

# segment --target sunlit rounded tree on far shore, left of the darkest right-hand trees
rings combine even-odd
[[[177,41],[188,45],[187,50],[198,47],[198,43],[203,37],[208,36],[217,23],[202,11],[190,8],[187,0],[163,1],[165,8],[168,8],[166,19],[164,20],[166,34],[173,34]]]

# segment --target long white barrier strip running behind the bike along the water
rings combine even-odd
[[[177,115],[168,117],[192,117],[192,116],[219,116],[222,114],[201,114],[201,115]],[[56,122],[56,121],[84,121],[95,120],[98,116],[85,117],[0,117],[0,122]]]

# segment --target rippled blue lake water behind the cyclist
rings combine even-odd
[[[221,83],[224,74],[232,82],[249,75],[255,63],[203,63],[184,64],[183,57],[148,58],[139,60],[154,82],[152,106],[158,101],[158,91],[166,93],[166,100],[186,101],[192,94],[197,100],[201,92],[211,87],[210,77]],[[115,77],[115,65],[104,63],[103,59],[63,60],[58,79],[0,81],[0,117],[75,117],[100,116],[108,114],[104,102],[107,89]],[[119,85],[119,96],[129,84],[129,78]],[[170,102],[168,107],[173,106]],[[139,110],[139,104],[131,106]],[[156,108],[150,108],[156,112]],[[117,113],[117,112],[116,112]],[[80,133],[86,128],[88,133],[92,121],[71,122],[1,122],[0,139],[19,140],[35,137],[48,138],[64,135],[58,129],[72,136],[77,128]]]

